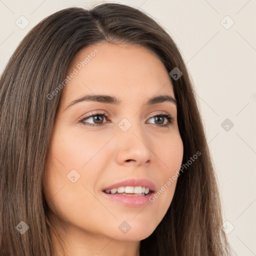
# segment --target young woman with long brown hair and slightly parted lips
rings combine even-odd
[[[48,16],[0,102],[1,256],[231,255],[188,72],[146,14]]]

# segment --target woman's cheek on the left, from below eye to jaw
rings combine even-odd
[[[108,140],[109,136],[89,136],[61,127],[52,133],[43,186],[49,208],[62,219],[83,223],[91,219],[91,209],[102,211],[93,194],[108,159],[102,148]],[[89,227],[92,222],[83,224]]]

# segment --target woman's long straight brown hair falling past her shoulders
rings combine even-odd
[[[1,75],[0,255],[52,256],[53,225],[42,177],[61,92],[50,100],[47,94],[64,80],[75,53],[103,41],[143,45],[168,72],[181,70],[179,79],[170,79],[178,102],[182,164],[201,153],[180,172],[171,205],[153,233],[140,241],[140,255],[231,255],[195,92],[179,49],[148,15],[117,3],[49,15],[24,37]],[[20,221],[29,227],[23,234],[16,228]]]

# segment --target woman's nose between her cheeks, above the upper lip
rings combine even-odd
[[[132,125],[127,131],[118,130],[116,161],[119,164],[148,164],[153,161],[150,138],[138,126]]]

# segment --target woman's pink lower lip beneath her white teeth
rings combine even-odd
[[[133,207],[139,207],[148,204],[150,202],[149,197],[152,195],[152,192],[146,195],[107,194],[103,191],[102,193],[110,200]]]

